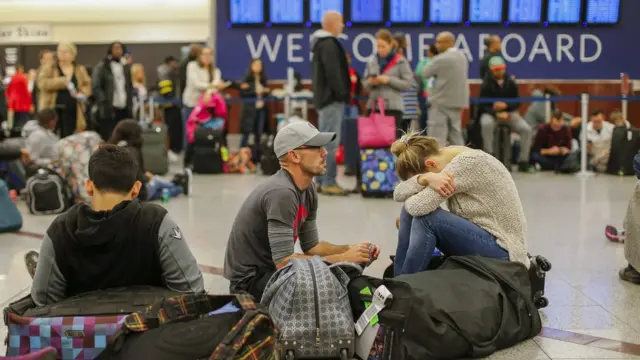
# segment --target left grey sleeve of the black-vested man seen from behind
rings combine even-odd
[[[56,253],[49,235],[45,234],[40,246],[36,275],[31,285],[31,298],[38,306],[64,300],[67,281],[56,264]]]

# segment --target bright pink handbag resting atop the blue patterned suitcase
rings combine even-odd
[[[384,100],[378,98],[380,113],[376,113],[375,102],[368,117],[358,117],[358,146],[363,148],[386,148],[396,140],[396,118],[384,113]]]

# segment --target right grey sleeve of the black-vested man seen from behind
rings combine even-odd
[[[187,245],[184,235],[169,214],[158,230],[160,265],[166,286],[179,292],[204,292],[200,267]]]

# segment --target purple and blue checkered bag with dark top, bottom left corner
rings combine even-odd
[[[32,354],[50,346],[61,359],[95,359],[127,315],[175,294],[150,286],[117,288],[39,308],[26,296],[4,309],[7,355]]]

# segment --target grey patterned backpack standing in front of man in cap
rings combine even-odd
[[[282,357],[352,358],[355,345],[349,276],[321,257],[291,259],[269,279],[261,303],[280,329]]]

